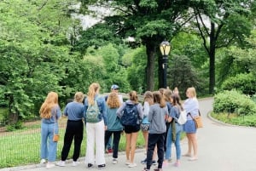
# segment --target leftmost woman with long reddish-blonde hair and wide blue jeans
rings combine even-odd
[[[58,119],[61,117],[61,108],[58,105],[58,94],[49,92],[43,105],[40,108],[41,122],[41,164],[45,163],[46,168],[55,166],[57,154],[57,142],[53,140],[54,134],[59,134]]]

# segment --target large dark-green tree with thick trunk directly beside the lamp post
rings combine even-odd
[[[188,1],[89,1],[82,3],[85,9],[88,5],[98,5],[111,9],[113,13],[103,18],[104,24],[113,29],[114,36],[123,39],[135,37],[137,44],[146,47],[146,85],[148,90],[154,89],[154,59],[161,56],[159,45],[166,38],[171,40],[181,26],[189,20],[186,14],[189,9]],[[183,19],[181,20],[181,17]],[[161,72],[161,68],[159,68]],[[162,77],[159,74],[159,80]]]

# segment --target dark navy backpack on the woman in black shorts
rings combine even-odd
[[[120,122],[123,126],[136,126],[137,124],[140,124],[137,104],[125,103],[125,109]]]

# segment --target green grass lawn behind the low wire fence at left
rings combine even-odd
[[[61,139],[58,142],[57,160],[61,158],[61,149],[65,134],[67,119],[60,122]],[[0,133],[0,168],[15,167],[40,161],[40,122],[28,124],[24,129],[13,132]],[[125,151],[125,134],[121,135],[119,151]],[[144,147],[143,134],[140,131],[137,139],[137,148]],[[84,140],[81,146],[81,157],[85,156],[86,131],[84,130]],[[73,156],[73,145],[69,151],[68,158]]]

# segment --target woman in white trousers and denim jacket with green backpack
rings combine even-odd
[[[99,92],[100,84],[91,83],[87,98],[84,100],[84,121],[87,134],[85,163],[87,163],[88,168],[92,168],[94,163],[96,163],[97,168],[101,169],[106,167],[104,136],[108,121],[106,102],[103,97],[99,96]],[[95,118],[91,118],[88,111],[93,105],[97,106],[97,115]]]

